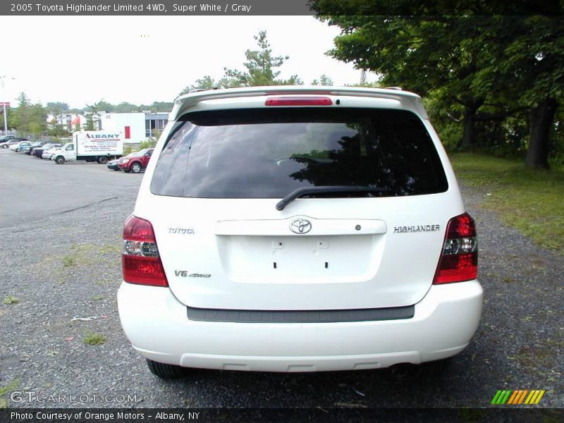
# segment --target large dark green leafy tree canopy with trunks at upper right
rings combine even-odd
[[[462,123],[462,147],[476,145],[478,124],[490,134],[529,109],[526,164],[548,167],[549,138],[564,92],[561,16],[496,16],[486,4],[479,5],[485,16],[470,8],[429,16],[437,10],[433,4],[422,13],[407,7],[408,1],[397,2],[395,16],[367,16],[384,10],[387,2],[313,4],[321,20],[341,27],[331,56],[381,74],[384,86],[431,98],[436,110]],[[409,16],[409,11],[419,14]],[[506,128],[504,136],[513,133]]]

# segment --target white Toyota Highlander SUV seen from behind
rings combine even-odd
[[[421,98],[178,98],[125,221],[118,307],[164,378],[440,368],[476,331],[482,287],[474,221]]]

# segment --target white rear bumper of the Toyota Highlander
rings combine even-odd
[[[168,288],[130,283],[118,290],[118,308],[133,348],[157,362],[266,372],[375,369],[460,353],[479,323],[482,286],[431,286],[412,319],[388,321],[191,321]]]

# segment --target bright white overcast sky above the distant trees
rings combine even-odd
[[[259,30],[266,30],[274,56],[290,56],[280,78],[298,74],[309,84],[325,73],[333,85],[360,80],[352,64],[324,54],[338,28],[311,16],[1,16],[0,27],[0,97],[13,105],[20,92],[33,103],[77,108],[100,99],[172,102],[204,75],[244,69]]]

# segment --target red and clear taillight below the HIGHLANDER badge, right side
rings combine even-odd
[[[478,276],[478,238],[470,214],[448,221],[443,252],[433,283],[471,281]]]

